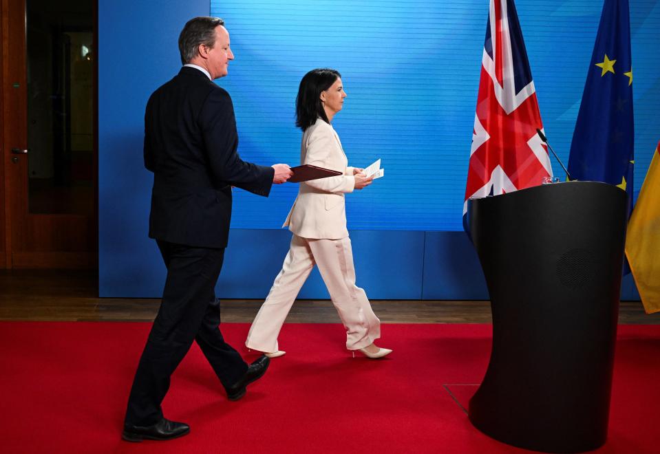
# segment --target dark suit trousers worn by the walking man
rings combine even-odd
[[[158,248],[167,280],[131,388],[125,418],[129,425],[149,426],[162,418],[160,404],[170,376],[193,340],[225,388],[242,378],[248,368],[220,333],[220,302],[214,289],[224,248],[193,248],[160,240]]]

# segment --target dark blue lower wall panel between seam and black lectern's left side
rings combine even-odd
[[[489,299],[477,253],[464,232],[427,232],[423,299]]]

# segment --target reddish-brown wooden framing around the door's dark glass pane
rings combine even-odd
[[[17,219],[15,213],[28,208],[28,178],[21,173],[28,174],[27,159],[24,155],[18,164],[12,162],[12,147],[27,148],[27,42],[25,31],[25,0],[0,0],[0,235],[3,248],[0,248],[0,268],[69,268],[69,269],[98,269],[98,6],[93,3],[92,32],[94,34],[94,109],[92,125],[94,131],[93,175],[94,175],[94,210],[91,219],[87,215],[25,215],[28,219],[26,232],[13,231]],[[16,32],[19,30],[19,32]],[[17,40],[23,40],[23,43]],[[21,99],[22,98],[22,99]],[[12,115],[12,106],[21,105],[19,115]],[[16,138],[22,138],[16,140]],[[25,142],[16,144],[13,142]],[[10,143],[12,142],[12,143]],[[16,166],[21,166],[17,171]],[[12,191],[14,191],[12,193]],[[19,215],[23,216],[23,215]],[[83,221],[84,218],[84,221]],[[22,219],[22,218],[21,218]],[[57,237],[63,235],[72,226],[81,226],[87,223],[85,233],[87,238],[86,250],[49,250],[36,247],[34,250],[25,248],[25,244],[42,237]],[[21,237],[20,239],[19,236]],[[18,242],[18,245],[16,244]],[[23,249],[19,246],[23,245]]]

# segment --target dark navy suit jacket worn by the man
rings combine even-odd
[[[268,196],[275,170],[243,161],[229,94],[182,67],[153,92],[145,113],[145,166],[153,172],[149,237],[224,248],[231,186]]]

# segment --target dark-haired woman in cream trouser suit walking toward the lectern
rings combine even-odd
[[[315,264],[346,328],[346,348],[360,350],[369,358],[382,358],[392,352],[374,344],[381,336],[381,322],[364,290],[355,285],[344,194],[365,188],[372,179],[365,177],[362,169],[348,166],[339,136],[330,125],[345,97],[341,74],[334,69],[313,69],[300,82],[296,125],[303,130],[301,164],[341,171],[343,175],[301,183],[284,222],[283,227],[288,226],[293,233],[291,246],[245,343],[270,358],[285,353],[277,345],[279,330]]]

